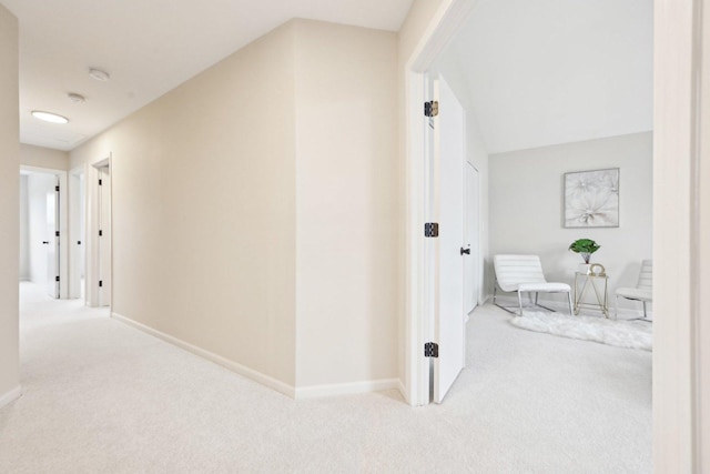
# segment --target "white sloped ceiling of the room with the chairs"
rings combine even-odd
[[[452,44],[489,153],[652,129],[652,0],[481,1]]]

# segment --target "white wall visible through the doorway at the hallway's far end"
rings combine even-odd
[[[57,177],[45,173],[32,173],[28,178],[28,250],[30,260],[30,281],[44,285],[47,281],[47,250],[42,244],[50,238],[47,226],[47,194],[53,192]]]

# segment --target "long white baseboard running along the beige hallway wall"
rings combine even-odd
[[[162,341],[173,344],[180,349],[183,349],[187,352],[191,352],[195,355],[206,359],[207,361],[214,362],[215,364],[220,364],[223,367],[231,370],[232,372],[236,372],[237,374],[243,375],[247,379],[251,379],[254,382],[258,382],[262,385],[266,385],[267,387],[273,389],[276,392],[283,393],[284,395],[287,395],[292,399],[296,397],[296,391],[294,390],[293,386],[285,384],[281,381],[277,381],[276,379],[262,374],[261,372],[257,372],[253,369],[245,367],[242,364],[230,361],[229,359],[224,359],[223,356],[214,354],[210,351],[205,351],[204,349],[200,349],[178,337],[173,337],[172,335],[165,334],[153,327],[146,326],[145,324],[139,323],[138,321],[133,321],[129,317],[122,316],[121,314],[111,313],[111,317],[118,321],[121,321],[122,323],[125,323],[140,331],[143,331],[150,335],[153,335]]]

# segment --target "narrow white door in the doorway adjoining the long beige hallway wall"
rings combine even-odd
[[[111,171],[99,168],[99,305],[111,305]]]

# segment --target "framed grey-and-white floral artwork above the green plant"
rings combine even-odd
[[[565,173],[562,226],[619,226],[619,169]]]

